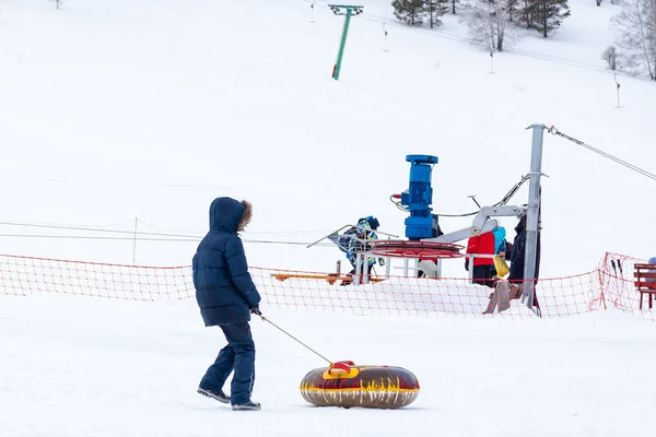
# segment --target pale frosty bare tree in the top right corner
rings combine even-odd
[[[628,67],[646,67],[656,81],[656,0],[624,0],[612,23],[620,31],[618,45]]]

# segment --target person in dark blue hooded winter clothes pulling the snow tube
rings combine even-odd
[[[261,316],[260,295],[253,283],[242,239],[237,235],[250,221],[247,201],[216,198],[210,205],[210,231],[192,261],[196,300],[206,327],[218,326],[227,345],[221,350],[200,381],[198,392],[233,410],[260,410],[250,395],[255,382],[255,343],[250,314]],[[233,373],[230,397],[223,392]]]

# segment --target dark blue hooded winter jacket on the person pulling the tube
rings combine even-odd
[[[194,256],[196,300],[207,327],[248,321],[250,308],[260,302],[237,235],[244,211],[234,199],[214,199],[210,231]]]

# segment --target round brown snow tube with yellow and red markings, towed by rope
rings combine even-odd
[[[301,394],[317,406],[400,409],[417,399],[419,381],[402,367],[338,362],[308,371],[301,381]]]

